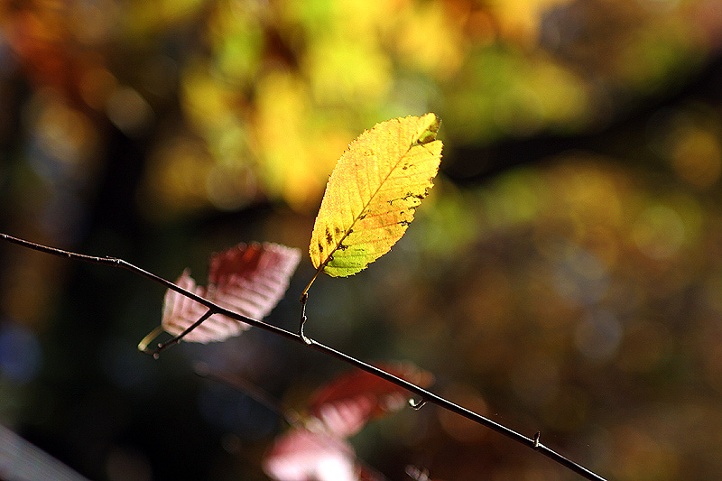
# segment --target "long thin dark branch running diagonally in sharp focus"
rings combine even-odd
[[[176,292],[180,292],[180,294],[188,297],[189,299],[192,299],[193,301],[199,302],[199,304],[202,304],[203,306],[207,307],[211,313],[222,314],[224,316],[227,316],[228,318],[236,319],[237,321],[240,321],[240,322],[245,322],[246,324],[250,324],[251,326],[255,326],[256,328],[262,328],[264,330],[272,332],[273,334],[282,336],[283,338],[291,339],[295,342],[298,342],[299,344],[301,344],[303,346],[310,347],[311,349],[314,349],[323,354],[326,354],[327,356],[336,357],[337,359],[344,361],[349,365],[354,365],[354,366],[358,367],[359,369],[363,369],[367,373],[376,375],[377,377],[385,379],[386,381],[388,381],[390,383],[393,383],[400,387],[403,387],[403,389],[406,389],[410,393],[416,394],[417,396],[421,397],[421,400],[424,403],[431,402],[433,404],[440,406],[443,409],[446,409],[447,411],[456,412],[458,415],[463,416],[470,421],[475,421],[478,424],[486,426],[486,428],[495,430],[496,432],[504,435],[506,438],[513,439],[514,441],[516,441],[520,444],[523,444],[524,446],[526,446],[528,448],[534,449],[534,450],[542,453],[547,458],[550,458],[552,461],[555,461],[556,463],[560,464],[561,466],[569,468],[571,471],[577,473],[579,476],[583,476],[584,478],[593,480],[593,481],[604,481],[603,477],[598,476],[596,473],[589,471],[586,467],[582,467],[581,465],[575,463],[574,461],[570,460],[569,458],[565,458],[564,456],[560,455],[558,452],[544,446],[542,443],[539,442],[538,435],[535,435],[533,438],[528,438],[526,436],[523,436],[523,434],[520,434],[520,433],[516,432],[515,430],[511,430],[502,424],[499,424],[495,421],[491,421],[490,419],[487,419],[484,416],[477,414],[476,412],[469,411],[469,410],[467,410],[467,408],[464,408],[462,406],[459,406],[458,404],[450,402],[447,399],[445,399],[437,394],[431,393],[430,391],[427,391],[427,390],[417,386],[416,384],[409,383],[408,381],[405,381],[400,377],[397,377],[395,375],[387,373],[384,370],[379,369],[378,367],[375,367],[374,365],[367,364],[363,361],[356,359],[355,357],[347,356],[346,354],[339,352],[336,349],[333,349],[328,346],[324,346],[323,344],[320,344],[319,342],[316,342],[316,341],[313,341],[309,344],[306,342],[306,340],[304,340],[303,337],[301,337],[301,334],[296,334],[291,331],[285,330],[283,328],[277,328],[277,327],[273,326],[272,324],[266,324],[265,322],[262,322],[260,320],[246,318],[245,316],[238,314],[235,311],[227,310],[226,308],[218,306],[218,304],[208,301],[207,299],[204,299],[193,292],[186,291],[185,289],[180,288],[179,286],[175,285],[174,283],[172,283],[170,281],[163,279],[162,277],[159,277],[153,273],[149,273],[148,271],[145,271],[145,270],[141,269],[140,267],[136,267],[133,264],[127,263],[123,259],[117,259],[114,257],[95,257],[92,255],[76,254],[76,253],[72,253],[69,251],[56,249],[54,247],[49,247],[47,245],[35,244],[35,243],[29,242],[29,241],[26,241],[23,239],[19,239],[17,237],[8,236],[3,233],[0,233],[0,238],[3,238],[6,241],[11,242],[13,244],[22,245],[23,247],[27,247],[27,248],[30,248],[30,249],[33,249],[36,251],[46,253],[46,254],[58,255],[60,257],[66,257],[69,259],[85,261],[85,262],[89,262],[89,263],[93,263],[93,264],[112,265],[112,266],[116,266],[116,267],[122,267],[128,271],[142,275],[143,277],[145,277],[147,279],[150,279],[154,282],[160,283],[162,286],[164,286],[168,289],[171,289]],[[419,405],[417,407],[420,408],[421,405]]]

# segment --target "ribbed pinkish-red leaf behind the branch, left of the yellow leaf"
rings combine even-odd
[[[281,300],[301,251],[277,244],[239,244],[220,254],[213,254],[208,269],[208,287],[197,286],[188,270],[176,284],[234,310],[251,319],[263,319]],[[170,289],[165,294],[162,328],[178,336],[208,310],[179,292]],[[237,336],[249,326],[244,322],[214,314],[183,340],[207,343]]]

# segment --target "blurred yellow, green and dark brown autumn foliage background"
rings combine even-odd
[[[721,48],[717,0],[4,0],[0,230],[201,280],[240,241],[305,251],[347,143],[435,112],[417,220],[317,282],[307,333],[603,476],[715,478]],[[263,479],[279,417],[193,363],[294,408],[346,367],[255,329],[153,361],[161,301],[0,245],[0,421],[94,479]],[[391,479],[573,478],[434,407],[353,442]]]

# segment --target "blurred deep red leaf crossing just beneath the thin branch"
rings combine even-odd
[[[381,367],[421,387],[428,386],[433,379],[430,373],[411,363]],[[366,422],[401,409],[409,397],[410,393],[396,384],[366,371],[354,370],[315,393],[309,412],[322,421],[329,432],[345,438],[356,434]]]

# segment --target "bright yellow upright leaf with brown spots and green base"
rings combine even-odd
[[[375,125],[352,142],[326,186],[310,239],[314,267],[355,274],[406,232],[439,171],[440,119],[407,116]]]

